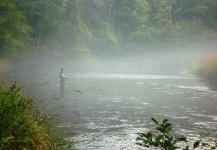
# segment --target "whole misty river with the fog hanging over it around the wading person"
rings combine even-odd
[[[118,67],[105,63],[104,69],[43,65],[45,71],[21,70],[10,78],[24,84],[24,91],[41,93],[37,97],[45,99],[51,110],[58,112],[64,106],[59,112],[65,121],[58,129],[79,150],[141,149],[135,144],[136,133],[153,129],[151,117],[169,119],[174,131],[190,141],[202,138],[214,142],[217,91],[210,90],[198,78],[183,74],[190,62],[203,55],[197,54],[188,55],[185,60],[174,55],[153,55],[137,59],[135,64],[128,59]],[[65,96],[49,103],[46,95],[59,95],[61,66],[69,76]]]

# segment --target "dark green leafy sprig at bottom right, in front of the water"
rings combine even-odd
[[[173,133],[172,124],[168,122],[168,119],[164,119],[160,123],[155,118],[151,119],[156,124],[155,129],[158,131],[158,133],[137,133],[137,145],[148,148],[159,148],[162,150],[189,150],[191,148],[189,145],[186,144],[188,141],[185,136]],[[207,146],[207,143],[204,143],[201,140],[197,140],[193,143],[192,149],[216,149],[216,146],[208,146],[210,148],[207,148]]]

